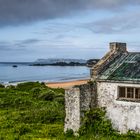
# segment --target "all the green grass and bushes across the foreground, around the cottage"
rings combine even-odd
[[[105,112],[86,113],[80,136],[64,129],[64,90],[29,82],[16,87],[0,85],[0,140],[132,140],[139,134],[120,135],[113,130]]]

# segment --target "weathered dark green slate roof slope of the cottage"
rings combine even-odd
[[[140,82],[140,53],[122,54],[103,69],[98,79]]]

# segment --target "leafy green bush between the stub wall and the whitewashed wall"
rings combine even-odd
[[[105,117],[105,111],[100,108],[92,109],[85,113],[83,125],[79,130],[80,135],[94,133],[95,135],[112,135],[115,130],[111,121]]]

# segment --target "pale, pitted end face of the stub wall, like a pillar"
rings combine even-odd
[[[80,127],[80,90],[79,88],[70,88],[65,91],[65,127],[64,131],[72,129],[78,131]]]

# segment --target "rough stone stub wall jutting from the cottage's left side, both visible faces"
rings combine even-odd
[[[96,86],[84,84],[65,91],[65,132],[78,131],[82,125],[84,112],[96,106]]]

